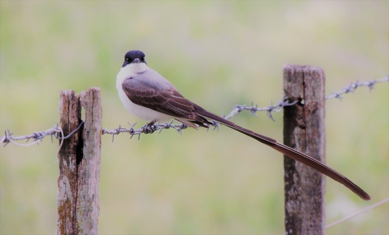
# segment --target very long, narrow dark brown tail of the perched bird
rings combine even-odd
[[[217,116],[216,114],[213,114],[211,112],[208,112],[205,109],[202,109],[201,107],[198,107],[199,109],[196,110],[196,113],[204,118],[212,119],[214,121],[217,121],[219,123],[222,123],[223,125],[226,125],[234,130],[237,130],[240,133],[243,133],[245,135],[248,135],[249,137],[258,140],[259,142],[266,144],[267,146],[272,147],[273,149],[279,151],[280,153],[289,156],[290,158],[299,161],[303,163],[304,165],[307,165],[308,167],[312,167],[318,172],[327,175],[328,177],[332,178],[335,181],[340,182],[347,188],[349,188],[351,191],[353,191],[356,195],[360,196],[363,200],[370,200],[370,196],[363,191],[363,189],[359,188],[356,184],[354,184],[352,181],[344,177],[342,174],[337,172],[336,170],[328,167],[324,163],[321,163],[320,161],[315,160],[314,158],[300,153],[299,151],[292,149],[291,147],[285,146],[279,142],[277,142],[274,139],[271,139],[269,137],[266,137],[264,135],[260,135],[258,133],[252,132],[251,130],[247,130],[246,128],[243,128],[241,126],[236,125],[235,123],[228,121],[224,118],[221,118],[220,116]]]

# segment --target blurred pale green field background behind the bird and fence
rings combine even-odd
[[[326,94],[389,73],[389,1],[0,1],[0,131],[59,121],[61,89],[102,92],[103,127],[140,121],[115,87],[124,54],[222,114],[282,98],[282,65],[326,72]],[[201,95],[198,95],[201,94]],[[331,223],[389,195],[389,89],[326,105],[327,163],[371,195],[327,180]],[[282,112],[232,121],[282,140]],[[144,125],[141,121],[140,125]],[[187,129],[102,137],[100,234],[283,234],[282,155],[239,133]],[[53,234],[58,141],[0,147],[0,233]],[[327,230],[388,234],[388,203]]]

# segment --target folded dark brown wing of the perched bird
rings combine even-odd
[[[203,123],[210,124],[207,119],[196,114],[197,105],[184,98],[172,86],[161,89],[152,82],[128,78],[123,81],[122,88],[131,102],[137,105],[179,119],[187,119],[200,126],[204,126]]]

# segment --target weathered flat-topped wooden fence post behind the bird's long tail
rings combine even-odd
[[[284,65],[284,144],[325,163],[325,76],[321,68]],[[285,234],[325,233],[325,178],[284,156]]]

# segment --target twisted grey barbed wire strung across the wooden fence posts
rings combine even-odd
[[[326,100],[331,99],[331,98],[338,98],[338,99],[342,100],[342,98],[343,98],[341,96],[342,94],[353,93],[358,87],[367,86],[370,90],[372,90],[374,88],[375,84],[380,83],[380,82],[387,82],[387,81],[389,81],[389,75],[387,75],[386,77],[383,77],[382,79],[378,79],[378,80],[373,79],[372,81],[352,82],[352,83],[350,83],[349,86],[342,88],[338,92],[331,92],[328,96],[326,96]],[[267,107],[258,107],[258,105],[254,106],[254,102],[251,103],[251,106],[249,106],[249,105],[235,105],[234,108],[231,110],[230,114],[228,114],[227,116],[224,116],[224,113],[223,113],[223,118],[231,119],[233,116],[238,115],[243,110],[248,110],[251,113],[251,115],[258,118],[256,112],[266,111],[267,116],[270,119],[272,119],[273,121],[275,121],[273,116],[272,116],[273,112],[279,112],[280,110],[282,110],[283,107],[294,105],[297,102],[298,102],[298,100],[289,103],[287,101],[287,97],[284,97],[282,100],[277,101],[275,103],[275,105],[273,105],[273,102],[271,102],[271,104]],[[211,122],[212,122],[211,126],[214,126],[214,130],[215,129],[218,130],[220,123],[217,123],[216,121],[211,121]],[[79,128],[81,128],[83,123],[84,122],[82,122],[73,132],[71,132],[66,137],[62,137],[63,131],[58,124],[55,125],[53,128],[50,128],[44,132],[34,132],[31,135],[12,136],[13,133],[11,133],[9,130],[7,130],[8,133],[7,133],[7,131],[5,131],[5,135],[3,137],[1,137],[0,143],[4,143],[4,146],[9,144],[10,142],[13,144],[16,144],[18,146],[30,146],[32,144],[39,144],[39,142],[41,142],[42,139],[48,135],[50,135],[50,137],[51,137],[51,142],[53,142],[53,136],[56,139],[64,140],[64,139],[67,139],[68,137],[70,137],[73,133],[77,132],[77,130],[79,130]],[[158,124],[153,124],[153,125],[145,125],[145,126],[142,126],[141,128],[137,128],[137,129],[134,128],[134,126],[137,123],[135,123],[133,125],[128,123],[130,125],[130,128],[123,128],[120,125],[118,128],[115,128],[114,130],[107,130],[107,128],[104,128],[102,134],[112,135],[112,142],[113,142],[114,136],[119,134],[119,133],[129,133],[131,135],[130,139],[132,138],[133,135],[138,135],[138,140],[139,140],[141,133],[145,133],[145,134],[154,133],[158,130],[159,130],[158,133],[160,133],[163,129],[174,128],[182,135],[182,130],[188,128],[188,125],[183,124],[183,123],[181,123],[181,124],[172,124],[172,123],[173,123],[173,121],[170,123],[163,123],[163,124],[158,123]],[[62,134],[60,135],[60,133],[62,133]],[[26,142],[28,142],[31,139],[33,140],[33,142],[30,142],[28,144],[19,144],[16,142],[18,140],[26,140]]]

